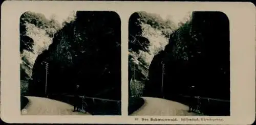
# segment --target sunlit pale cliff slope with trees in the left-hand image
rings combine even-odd
[[[20,82],[22,94],[27,94],[28,82],[38,55],[48,49],[60,24],[40,13],[27,11],[20,16]]]

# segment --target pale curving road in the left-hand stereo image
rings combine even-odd
[[[22,115],[90,115],[89,113],[73,112],[73,106],[67,103],[44,97],[26,96],[28,105]]]

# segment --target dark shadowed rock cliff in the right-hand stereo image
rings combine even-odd
[[[229,99],[229,70],[228,18],[221,12],[194,12],[154,57],[146,94],[188,94],[194,85],[201,96]]]

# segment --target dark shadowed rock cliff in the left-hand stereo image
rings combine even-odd
[[[45,62],[49,93],[80,92],[93,96],[115,88],[121,95],[121,22],[115,12],[82,12],[54,34],[49,49],[36,59],[32,93],[44,94]],[[33,88],[33,89],[32,89]],[[40,91],[40,92],[39,92]]]

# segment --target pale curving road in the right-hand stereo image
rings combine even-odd
[[[156,97],[141,97],[144,104],[132,115],[147,116],[195,116],[196,113],[189,113],[188,106],[178,102],[169,101]]]

